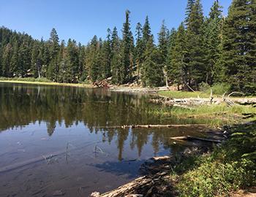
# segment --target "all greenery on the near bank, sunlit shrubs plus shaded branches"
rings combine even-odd
[[[256,185],[256,121],[231,132],[211,155],[189,156],[174,168],[180,196],[230,196]]]

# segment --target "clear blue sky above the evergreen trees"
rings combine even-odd
[[[224,15],[232,0],[219,0]],[[205,15],[214,0],[202,0]],[[162,20],[168,28],[184,20],[187,0],[0,0],[0,26],[26,32],[36,39],[48,39],[56,28],[59,38],[75,39],[86,44],[95,34],[105,38],[107,28],[118,28],[121,34],[124,12],[131,12],[132,30],[149,17],[154,36]]]

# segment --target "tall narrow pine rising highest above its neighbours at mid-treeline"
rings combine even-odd
[[[134,41],[132,37],[132,31],[129,23],[129,10],[126,11],[126,20],[123,26],[123,39],[122,39],[122,72],[121,83],[127,83],[132,79],[133,69],[133,49]]]

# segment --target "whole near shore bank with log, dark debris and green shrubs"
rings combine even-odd
[[[221,144],[199,143],[177,155],[151,158],[141,166],[145,176],[108,193],[92,193],[91,197],[239,196],[238,190],[252,190],[255,195],[256,120],[225,126],[216,134],[227,139]],[[176,144],[187,139],[171,140]]]

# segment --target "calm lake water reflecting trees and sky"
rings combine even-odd
[[[101,89],[0,83],[0,196],[105,192],[138,177],[148,158],[184,149],[170,136],[198,134],[199,128],[113,128],[191,123],[154,115],[161,106],[148,99]]]

